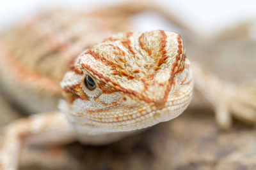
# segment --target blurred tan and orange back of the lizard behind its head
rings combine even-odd
[[[114,19],[54,9],[5,32],[0,41],[0,74],[6,96],[28,113],[56,110],[59,82],[70,62],[128,23],[125,18]]]

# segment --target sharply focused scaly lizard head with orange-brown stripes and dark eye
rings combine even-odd
[[[61,110],[77,129],[122,132],[180,115],[193,81],[179,34],[125,32],[81,53],[61,87]]]

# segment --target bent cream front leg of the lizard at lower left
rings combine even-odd
[[[58,111],[16,120],[4,129],[0,169],[17,169],[22,145],[57,145],[73,141],[75,137],[65,115]]]

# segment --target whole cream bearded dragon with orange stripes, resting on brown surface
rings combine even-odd
[[[216,110],[222,127],[230,126],[228,111],[239,115],[242,110],[236,108],[246,108],[243,102],[232,104],[234,97],[244,96],[244,88],[223,83],[196,63],[190,66],[179,34],[123,32],[90,47],[119,31],[104,21],[76,12],[44,13],[3,36],[0,68],[6,93],[30,112],[48,112],[4,129],[2,169],[17,167],[22,143],[78,139],[102,145],[179,116],[192,96],[191,67],[195,88]],[[52,111],[61,89],[65,100],[60,111]]]

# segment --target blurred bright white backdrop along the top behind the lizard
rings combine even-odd
[[[2,1],[0,6],[0,27],[3,28],[8,24],[13,24],[15,21],[30,16],[38,10],[42,10],[49,6],[70,6],[72,8],[83,8],[90,10],[91,8],[99,6],[109,6],[112,4],[121,4],[125,0],[95,0],[95,1],[82,1],[82,0],[45,0],[45,1],[17,1],[9,0]],[[188,1],[188,0],[160,0],[152,1],[157,5],[163,7],[170,13],[175,14],[175,17],[186,22],[193,31],[204,35],[212,35],[220,32],[222,29],[232,27],[240,24],[244,20],[255,21],[256,3],[253,0],[232,1],[232,0],[216,0],[216,1]],[[158,25],[146,22],[148,29],[161,29],[165,25]],[[145,29],[145,27],[140,27]],[[252,28],[253,37],[255,38],[255,27]]]

